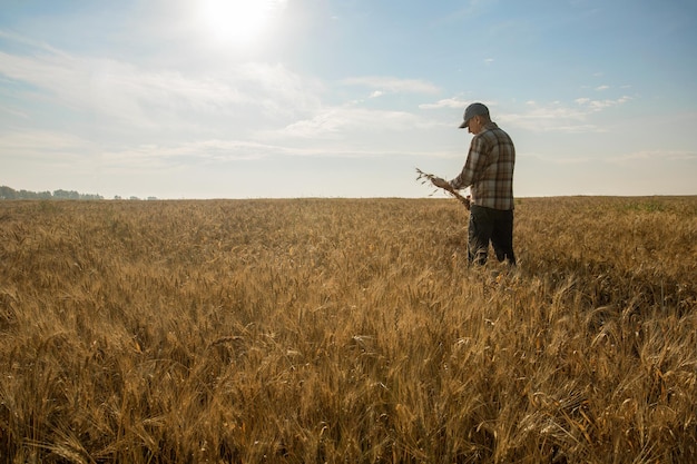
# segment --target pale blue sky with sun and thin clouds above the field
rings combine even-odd
[[[0,0],[0,185],[434,195],[485,103],[517,197],[697,195],[694,0]]]

